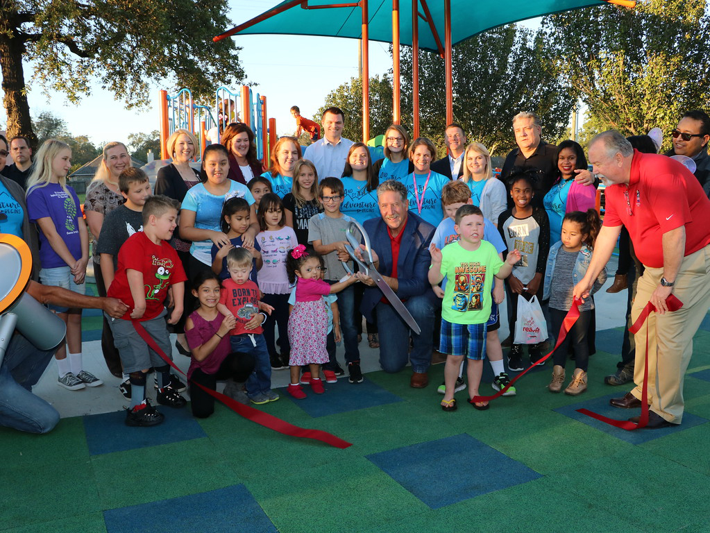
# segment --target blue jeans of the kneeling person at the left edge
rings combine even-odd
[[[59,413],[32,386],[42,377],[54,350],[35,348],[14,334],[0,367],[0,425],[28,433],[47,433],[59,422]]]

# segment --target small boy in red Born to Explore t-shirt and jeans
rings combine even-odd
[[[234,315],[236,324],[229,331],[231,351],[254,356],[254,371],[246,380],[246,394],[256,405],[278,400],[271,390],[271,361],[261,324],[266,314],[259,312],[259,287],[249,279],[253,257],[246,248],[232,248],[226,255],[229,278],[222,282],[217,310]]]

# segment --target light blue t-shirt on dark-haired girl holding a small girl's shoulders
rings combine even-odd
[[[204,183],[198,183],[195,187],[187,190],[185,199],[182,200],[181,209],[195,211],[195,228],[211,229],[212,231],[222,231],[220,222],[222,221],[222,205],[230,198],[244,198],[249,205],[254,203],[249,188],[241,183],[231,181],[229,191],[224,196],[215,196],[207,191]],[[190,254],[205,265],[212,265],[212,241],[197,241],[190,246]]]

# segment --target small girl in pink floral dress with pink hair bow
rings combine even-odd
[[[329,285],[321,280],[320,257],[302,244],[293,248],[286,257],[288,280],[296,283],[296,303],[288,318],[288,339],[291,355],[288,361],[291,383],[288,393],[298,400],[305,398],[299,383],[300,367],[310,367],[310,386],[316,394],[325,392],[320,379],[320,365],[328,362],[325,349],[328,314],[322,296],[342,291],[356,282],[354,276]]]

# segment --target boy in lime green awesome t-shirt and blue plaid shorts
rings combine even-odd
[[[482,241],[484,216],[476,206],[463,205],[456,211],[454,229],[459,240],[439,250],[430,247],[432,266],[429,282],[448,279],[442,302],[442,329],[439,351],[447,354],[444,367],[446,392],[441,405],[444,411],[457,408],[454,399],[456,378],[464,356],[469,358],[466,371],[469,378],[469,397],[479,393],[483,360],[486,353],[486,322],[491,317],[491,287],[493,277],[505,279],[520,253],[508,253],[505,263],[498,257],[491,243]],[[488,409],[488,402],[469,403],[478,410]]]

